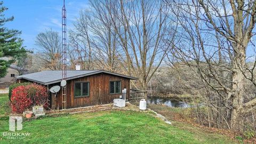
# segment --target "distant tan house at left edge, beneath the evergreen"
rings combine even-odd
[[[0,89],[4,89],[5,87],[9,87],[11,84],[15,83],[15,76],[20,75],[21,68],[15,65],[11,65],[7,69],[7,74],[5,77],[0,78]],[[26,72],[27,70],[22,70],[22,72]]]

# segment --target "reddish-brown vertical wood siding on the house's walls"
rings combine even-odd
[[[121,81],[121,92],[123,89],[127,89],[126,99],[129,100],[130,95],[130,79],[114,76],[106,73],[95,74],[86,77],[80,77],[67,81],[67,108],[86,107],[95,105],[104,105],[107,103],[113,103],[113,99],[119,98],[120,94],[109,93],[110,81]],[[21,82],[26,82],[22,81]],[[89,97],[75,98],[74,97],[74,83],[75,82],[89,82],[90,91]],[[49,85],[49,89],[54,85],[60,85],[55,83]],[[49,96],[51,99],[51,96]],[[61,90],[57,94],[57,107],[61,109]],[[52,103],[51,103],[52,105]]]

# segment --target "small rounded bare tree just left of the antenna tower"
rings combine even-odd
[[[39,47],[39,58],[42,59],[45,69],[61,69],[61,38],[58,32],[46,30],[36,37],[36,45]]]

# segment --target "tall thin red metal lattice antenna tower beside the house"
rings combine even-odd
[[[62,7],[62,80],[67,78],[67,11],[65,7],[65,0],[63,0]],[[62,86],[62,109],[67,108],[67,87]]]

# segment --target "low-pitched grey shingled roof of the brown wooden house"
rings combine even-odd
[[[129,78],[129,79],[133,79],[133,80],[138,79],[136,77],[121,75],[121,74],[117,74],[117,73],[111,73],[110,71],[106,71],[106,70],[67,70],[66,80],[68,81],[70,79],[75,79],[78,77],[90,76],[90,75],[95,75],[95,74],[100,74],[100,73],[106,73],[106,74],[110,74],[110,75],[125,77],[125,78]],[[23,78],[23,79],[27,79],[32,82],[40,83],[43,85],[48,85],[48,84],[61,82],[62,71],[61,70],[47,70],[47,71],[41,71],[38,73],[17,76],[16,78],[17,79]]]

